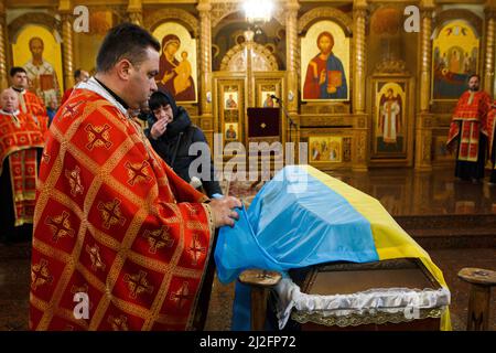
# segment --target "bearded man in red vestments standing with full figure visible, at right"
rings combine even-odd
[[[468,90],[463,93],[456,104],[448,136],[448,149],[456,150],[455,176],[478,183],[484,179],[484,164],[487,148],[487,113],[492,98],[478,90],[481,78],[468,78]]]

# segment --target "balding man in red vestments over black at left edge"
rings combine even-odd
[[[36,175],[43,131],[33,117],[19,110],[17,93],[0,96],[0,238],[24,240],[32,234]]]

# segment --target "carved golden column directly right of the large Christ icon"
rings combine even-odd
[[[367,18],[367,1],[355,0],[353,4],[353,113],[355,115],[353,170],[367,171],[369,129],[365,114],[365,22]]]

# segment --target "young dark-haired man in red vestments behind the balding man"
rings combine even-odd
[[[23,67],[10,69],[11,88],[18,93],[19,108],[23,114],[31,114],[42,129],[48,127],[48,116],[43,100],[28,90],[28,74]]]

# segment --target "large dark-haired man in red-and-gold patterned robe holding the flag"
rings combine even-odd
[[[183,181],[129,116],[157,90],[159,51],[138,25],[111,29],[95,76],[53,120],[36,192],[32,330],[193,327],[215,228],[234,225],[241,204]]]

